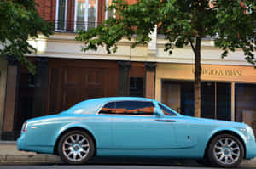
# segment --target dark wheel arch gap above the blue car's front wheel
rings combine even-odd
[[[206,155],[207,155],[207,149],[209,148],[209,145],[211,144],[212,139],[221,134],[231,134],[234,137],[236,137],[237,139],[239,139],[239,141],[241,141],[241,144],[243,145],[243,148],[244,148],[244,157],[243,158],[246,157],[246,144],[244,142],[244,139],[241,137],[241,134],[238,132],[235,132],[234,130],[228,130],[228,129],[218,130],[217,132],[214,132],[212,134],[212,136],[208,139],[207,146],[206,146],[206,149],[204,152],[204,157],[206,157]]]

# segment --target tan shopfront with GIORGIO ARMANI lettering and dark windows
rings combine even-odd
[[[155,98],[194,116],[194,65],[158,64]],[[256,132],[256,69],[202,65],[201,117],[246,122]]]

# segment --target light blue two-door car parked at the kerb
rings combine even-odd
[[[60,155],[69,164],[96,156],[188,158],[224,167],[256,156],[244,123],[179,115],[154,100],[89,99],[23,124],[18,149]]]

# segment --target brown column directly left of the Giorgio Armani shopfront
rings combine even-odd
[[[156,62],[146,62],[146,98],[154,99]]]

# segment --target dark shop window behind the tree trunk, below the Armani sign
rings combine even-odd
[[[194,82],[162,81],[162,102],[182,115],[194,116]],[[201,82],[201,117],[230,121],[229,82]]]

